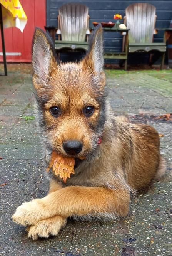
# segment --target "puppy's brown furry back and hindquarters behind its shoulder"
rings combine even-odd
[[[123,147],[130,151],[122,156],[128,184],[135,190],[144,189],[152,179],[160,178],[166,170],[165,160],[160,156],[158,132],[150,125],[132,124],[126,116],[115,118],[117,137]],[[121,151],[122,152],[122,151]]]

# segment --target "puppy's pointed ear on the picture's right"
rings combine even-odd
[[[103,29],[101,24],[95,27],[90,36],[88,53],[82,63],[83,67],[90,67],[96,73],[103,71]]]

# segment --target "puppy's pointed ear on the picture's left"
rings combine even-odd
[[[32,44],[32,66],[34,75],[41,83],[48,79],[53,67],[57,66],[55,56],[51,38],[42,29],[36,28]]]

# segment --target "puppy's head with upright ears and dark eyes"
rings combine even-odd
[[[32,48],[38,121],[45,144],[68,157],[97,148],[105,123],[102,27],[92,33],[80,63],[58,64],[51,39],[36,29]]]

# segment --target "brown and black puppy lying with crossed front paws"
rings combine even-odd
[[[154,128],[110,111],[101,25],[86,57],[67,64],[57,63],[50,38],[36,29],[32,64],[45,167],[55,151],[75,158],[75,174],[64,183],[50,171],[48,195],[19,206],[13,221],[28,226],[28,237],[37,239],[57,235],[70,216],[127,216],[131,193],[160,178],[165,161]]]

